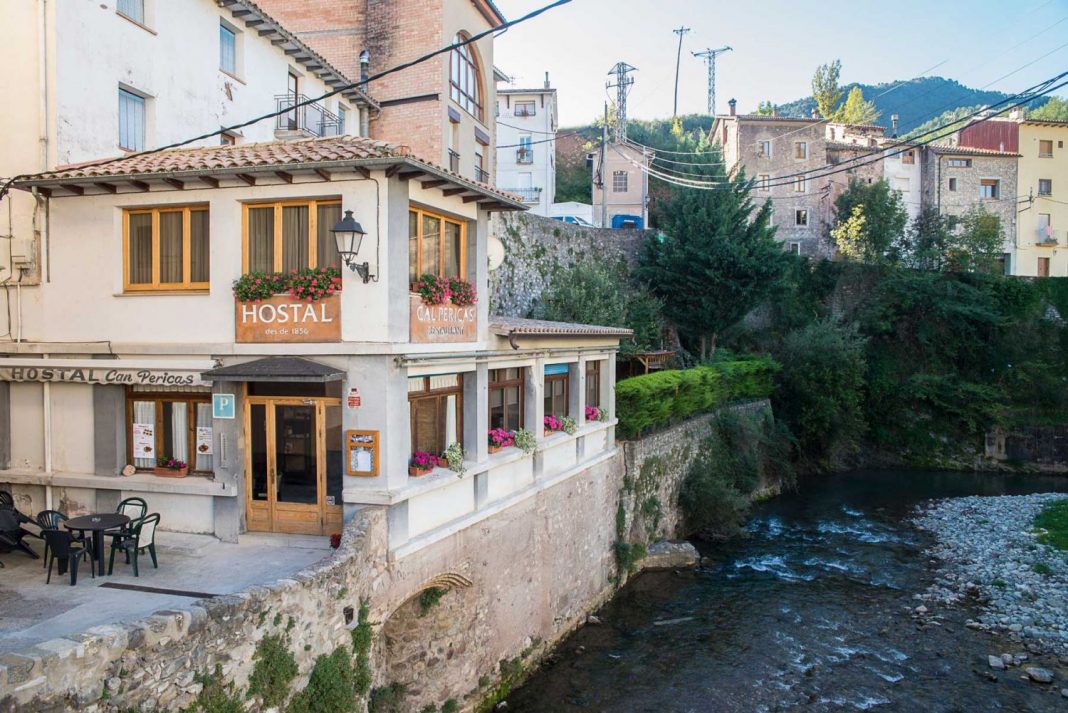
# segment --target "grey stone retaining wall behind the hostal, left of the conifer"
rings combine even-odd
[[[633,266],[643,231],[582,227],[524,213],[494,213],[490,235],[504,244],[504,263],[490,273],[490,313],[527,317],[552,274],[584,259]]]

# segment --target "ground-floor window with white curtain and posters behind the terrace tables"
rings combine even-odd
[[[131,393],[126,439],[130,460],[152,470],[160,459],[189,464],[190,472],[210,473],[215,466],[211,403],[207,395]]]

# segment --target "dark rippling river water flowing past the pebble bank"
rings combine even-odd
[[[1023,649],[964,628],[974,612],[940,611],[943,625],[927,629],[909,612],[931,581],[928,535],[906,522],[915,505],[1050,491],[1068,491],[1068,478],[812,479],[757,506],[748,537],[698,545],[711,564],[632,580],[507,711],[1068,711],[1019,669],[989,680],[988,654]]]

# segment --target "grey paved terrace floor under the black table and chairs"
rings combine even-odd
[[[27,538],[37,554],[44,542]],[[0,553],[0,653],[19,651],[51,638],[69,636],[100,624],[135,621],[157,609],[182,608],[197,600],[178,593],[157,593],[101,585],[136,585],[184,592],[230,595],[253,585],[281,580],[330,554],[327,537],[307,535],[242,535],[237,544],[207,535],[157,530],[159,569],[147,552],[138,558],[135,577],[122,553],[115,553],[114,574],[94,580],[90,563],[78,567],[78,584],[52,567],[45,584],[44,558],[21,552]]]

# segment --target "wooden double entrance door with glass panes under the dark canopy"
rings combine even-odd
[[[246,513],[250,530],[302,535],[341,532],[341,417],[336,398],[246,399]]]

